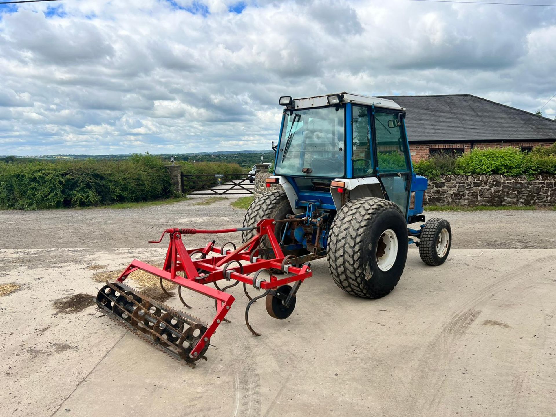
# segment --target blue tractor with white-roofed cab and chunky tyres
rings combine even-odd
[[[443,264],[450,225],[425,222],[428,181],[413,172],[403,107],[346,92],[285,96],[280,105],[274,175],[266,179],[271,189],[252,202],[245,227],[274,219],[290,263],[326,256],[337,286],[360,297],[394,289],[410,244],[419,246],[425,264]],[[243,233],[247,241],[253,232]],[[259,254],[265,251],[271,249]]]

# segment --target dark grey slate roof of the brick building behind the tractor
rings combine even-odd
[[[556,141],[556,121],[470,94],[384,98],[407,109],[409,142]]]

